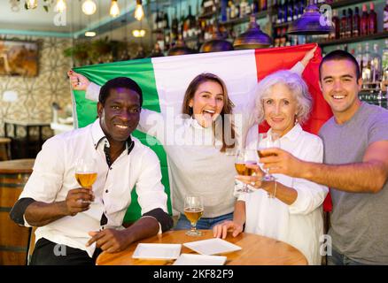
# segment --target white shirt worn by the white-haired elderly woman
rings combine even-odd
[[[269,130],[271,131],[271,130]],[[247,146],[256,149],[258,127],[253,126],[247,136]],[[299,159],[322,163],[322,140],[303,131],[297,124],[280,139],[281,148]],[[274,174],[277,182],[298,192],[291,205],[277,198],[270,199],[266,191],[259,189],[251,194],[241,194],[238,200],[245,202],[245,232],[285,241],[299,249],[309,264],[321,264],[319,240],[323,233],[322,203],[328,187],[309,180]]]

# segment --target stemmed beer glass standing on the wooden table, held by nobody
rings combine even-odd
[[[204,202],[199,195],[188,195],[184,199],[184,215],[189,219],[191,230],[186,232],[189,236],[200,236],[202,233],[197,230],[197,222],[204,213]]]

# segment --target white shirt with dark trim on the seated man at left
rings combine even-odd
[[[92,125],[58,134],[43,144],[36,157],[34,171],[19,198],[31,197],[43,203],[65,201],[70,189],[80,187],[74,175],[76,160],[93,157],[97,163],[97,180],[93,185],[96,200],[90,204],[89,210],[37,228],[36,241],[45,238],[86,250],[92,256],[96,245],[85,246],[90,239],[88,233],[104,228],[123,229],[122,221],[135,186],[142,215],[157,208],[167,212],[167,195],[160,182],[159,158],[136,138],[131,138],[135,142],[134,149],[130,154],[128,149],[123,150],[111,168],[105,159],[106,138],[99,119]],[[100,226],[103,213],[108,222]],[[28,226],[26,222],[25,225]]]

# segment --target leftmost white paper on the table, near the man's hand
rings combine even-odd
[[[181,253],[181,244],[139,243],[133,258],[175,259]]]

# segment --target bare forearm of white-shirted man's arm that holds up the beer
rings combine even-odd
[[[35,202],[27,206],[25,218],[30,226],[45,226],[69,215],[66,202],[42,203]]]

